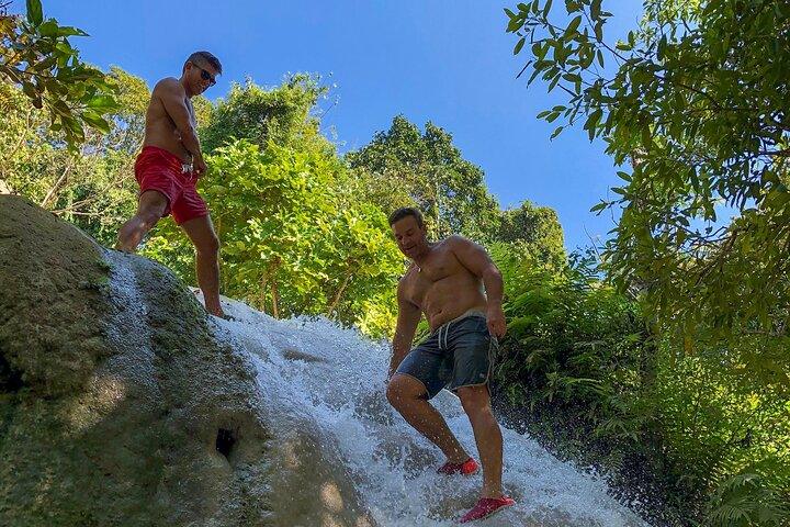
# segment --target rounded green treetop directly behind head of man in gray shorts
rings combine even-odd
[[[398,115],[387,132],[376,133],[346,160],[359,192],[387,212],[419,208],[439,237],[463,234],[484,242],[496,228],[498,205],[483,170],[463,159],[452,135],[430,122],[421,133]]]

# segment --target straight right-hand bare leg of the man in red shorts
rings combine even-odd
[[[195,217],[181,224],[195,246],[198,285],[203,291],[206,311],[225,316],[219,304],[219,239],[214,232],[211,216]]]

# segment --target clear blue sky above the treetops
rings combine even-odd
[[[555,103],[545,86],[516,79],[524,58],[512,56],[504,7],[517,2],[393,0],[43,0],[46,16],[91,36],[74,38],[83,59],[117,65],[153,86],[179,76],[198,49],[219,57],[224,75],[206,96],[222,97],[232,81],[251,77],[278,85],[291,71],[335,83],[338,104],[324,117],[340,152],[365,145],[404,114],[452,133],[463,156],[486,173],[505,206],[530,200],[555,209],[565,245],[605,236],[611,217],[588,212],[617,186],[602,144],[580,127],[549,141],[556,123],[535,115]],[[554,9],[562,9],[555,2]],[[614,13],[608,34],[635,26],[639,0],[605,2]],[[12,10],[21,11],[16,0]],[[329,105],[329,101],[325,103]]]

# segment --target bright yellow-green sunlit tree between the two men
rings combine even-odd
[[[323,314],[371,335],[392,332],[403,259],[381,210],[340,206],[337,156],[239,139],[207,160],[201,193],[222,240],[225,294],[275,317]],[[163,222],[145,250],[192,278],[191,245],[176,231]],[[386,303],[372,306],[376,298]]]

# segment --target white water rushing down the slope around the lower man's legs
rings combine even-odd
[[[255,362],[261,399],[279,434],[312,427],[318,449],[335,463],[331,470],[352,481],[370,518],[358,525],[451,526],[474,505],[481,476],[437,474],[441,452],[386,402],[384,343],[326,319],[276,321],[240,302],[223,303],[235,321],[216,319],[217,337]],[[433,403],[476,453],[458,399],[442,392]],[[600,479],[558,461],[528,436],[507,428],[503,434],[504,484],[517,505],[473,525],[646,525],[610,497]]]

